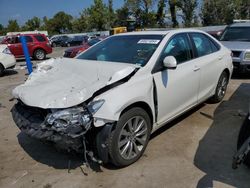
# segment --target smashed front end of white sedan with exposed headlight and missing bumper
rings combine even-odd
[[[53,143],[58,149],[87,155],[95,162],[108,162],[107,138],[112,124],[93,129],[94,113],[103,103],[79,105],[63,110],[30,107],[18,101],[12,116],[19,129],[30,137]],[[102,130],[101,130],[102,129]]]

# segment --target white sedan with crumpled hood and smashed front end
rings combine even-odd
[[[201,31],[119,34],[76,59],[41,63],[13,90],[12,115],[32,137],[127,166],[152,132],[209,98],[221,101],[232,68],[231,52]]]

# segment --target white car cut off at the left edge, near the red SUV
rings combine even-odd
[[[0,76],[5,69],[12,69],[16,65],[16,59],[5,44],[0,44]]]

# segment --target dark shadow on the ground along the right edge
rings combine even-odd
[[[234,187],[250,187],[250,170],[242,165],[231,168],[236,152],[237,137],[244,121],[241,112],[248,111],[250,84],[241,84],[228,101],[223,101],[215,110],[213,124],[200,140],[194,164],[206,173],[197,188],[214,187],[218,181]]]

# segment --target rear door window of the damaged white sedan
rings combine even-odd
[[[218,47],[207,36],[201,33],[191,33],[190,36],[194,42],[198,57],[218,51]]]

